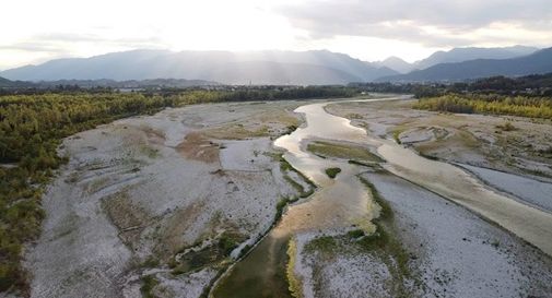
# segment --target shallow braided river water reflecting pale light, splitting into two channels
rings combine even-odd
[[[285,159],[315,182],[318,190],[307,201],[289,206],[269,235],[223,276],[213,290],[214,297],[291,297],[285,281],[290,237],[306,230],[348,227],[377,216],[377,207],[373,206],[367,190],[356,178],[365,169],[307,152],[306,145],[313,140],[373,147],[387,160],[384,167],[391,174],[467,206],[552,254],[551,214],[492,191],[456,166],[426,159],[394,141],[366,134],[364,129],[351,126],[348,119],[326,112],[325,106],[333,103],[343,100],[298,107],[295,111],[305,115],[307,126],[274,141],[275,146],[286,150]],[[342,171],[336,179],[330,179],[325,174],[329,167],[339,167]]]

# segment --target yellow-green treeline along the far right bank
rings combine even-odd
[[[414,108],[462,114],[512,115],[552,119],[552,98],[497,94],[448,94],[422,98]]]

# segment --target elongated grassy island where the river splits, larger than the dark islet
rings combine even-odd
[[[330,142],[313,142],[307,145],[307,150],[314,154],[343,159],[355,159],[361,162],[380,163],[383,159],[362,146],[336,144]]]

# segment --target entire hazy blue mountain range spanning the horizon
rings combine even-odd
[[[491,75],[519,76],[548,72],[552,72],[552,48],[539,50],[514,46],[455,48],[437,51],[414,63],[397,57],[366,62],[327,50],[131,50],[91,58],[57,59],[38,65],[5,70],[0,72],[0,76],[12,81],[42,82],[43,85],[57,82],[117,87],[129,84],[136,86],[137,82],[157,79],[164,81],[149,83],[166,86],[205,85],[215,84],[214,82],[239,85],[324,85],[372,81],[462,81]],[[119,82],[126,84],[118,84]],[[0,81],[0,86],[2,84],[8,83]]]

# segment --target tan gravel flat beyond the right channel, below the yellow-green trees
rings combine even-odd
[[[428,158],[552,181],[550,120],[441,114],[412,109],[412,103],[343,103],[326,109],[374,135],[412,146]]]

